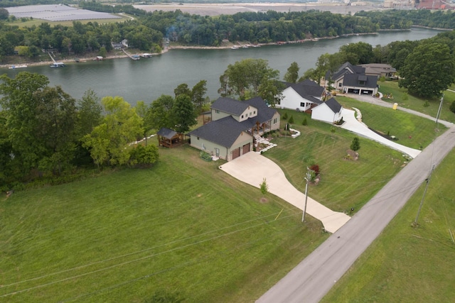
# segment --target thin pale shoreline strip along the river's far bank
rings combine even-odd
[[[377,35],[378,33],[350,33],[345,35],[336,35],[333,37],[321,37],[321,38],[306,38],[302,40],[294,40],[294,41],[277,41],[271,43],[257,43],[256,47],[268,46],[268,45],[286,45],[286,44],[298,44],[298,43],[306,43],[306,42],[316,42],[318,40],[327,40],[327,39],[336,39],[342,37],[348,37],[351,35]],[[220,45],[220,46],[197,46],[197,45],[169,45],[161,53],[152,53],[152,56],[163,55],[168,53],[169,50],[226,50],[232,48],[232,46],[237,46],[238,48],[243,48],[244,45],[250,45],[249,42],[243,41],[242,43],[229,43],[229,45]],[[248,48],[254,48],[253,46],[248,46]],[[104,57],[103,60],[112,60],[112,59],[120,59],[120,58],[127,58],[129,57],[126,54],[112,54],[107,55]],[[94,56],[90,57],[80,57],[80,62],[87,62],[87,61],[95,61]],[[58,60],[58,62],[68,63],[68,62],[75,62],[74,58],[72,59],[62,59]],[[9,68],[12,65],[27,65],[29,66],[42,66],[42,65],[51,65],[53,62],[51,60],[40,61],[40,62],[21,62],[21,63],[9,63],[9,64],[0,64],[0,68]]]

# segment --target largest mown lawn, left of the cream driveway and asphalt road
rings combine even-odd
[[[0,301],[252,302],[327,236],[188,145],[160,154],[151,169],[2,197]]]

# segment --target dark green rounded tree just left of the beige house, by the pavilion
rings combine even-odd
[[[191,102],[191,98],[186,94],[176,97],[172,108],[172,121],[176,126],[176,131],[186,133],[190,130],[191,126],[198,123],[196,118],[198,118],[198,115],[194,109],[193,102]]]

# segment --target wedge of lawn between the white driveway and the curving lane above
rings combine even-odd
[[[368,104],[348,97],[336,97],[337,101],[345,108],[356,107],[362,112],[362,121],[375,131],[390,133],[395,136],[401,145],[410,148],[425,148],[432,143],[435,132],[439,136],[441,131],[437,131],[434,121],[426,118],[408,114],[404,111],[394,111],[381,106]],[[439,124],[439,128],[445,130],[446,127]]]

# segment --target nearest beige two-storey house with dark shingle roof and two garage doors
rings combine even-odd
[[[188,133],[191,146],[224,160],[252,150],[253,134],[279,129],[279,113],[261,97],[237,101],[218,98],[210,106],[212,121]]]

